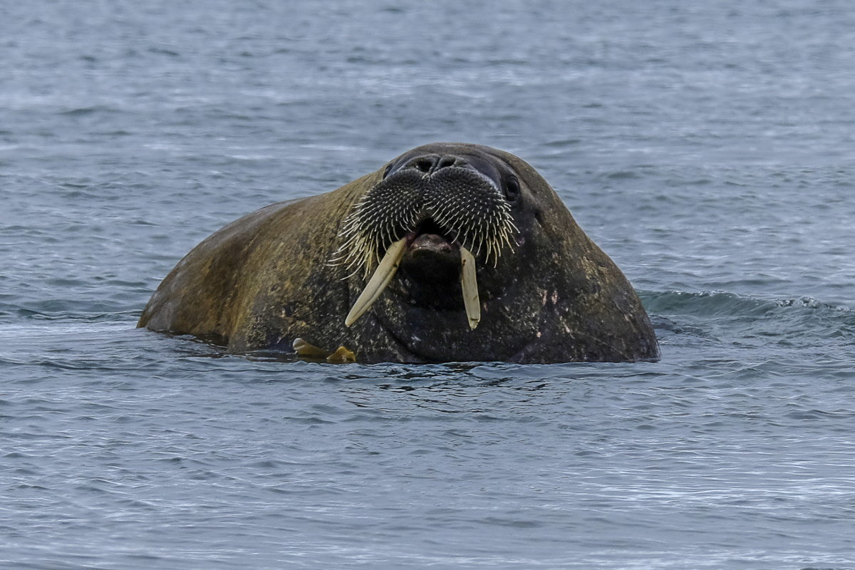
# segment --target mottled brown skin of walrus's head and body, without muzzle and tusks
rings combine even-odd
[[[339,226],[386,167],[414,156],[489,161],[516,177],[520,232],[498,265],[478,258],[481,322],[463,311],[453,255],[408,253],[369,312],[345,315],[363,290],[330,264]],[[453,254],[453,252],[452,252]],[[291,351],[303,338],[358,361],[638,361],[659,351],[639,298],[615,263],[582,232],[543,178],[520,158],[472,144],[428,144],[336,191],[276,203],[198,244],[151,297],[139,326],[215,339],[230,352]]]

